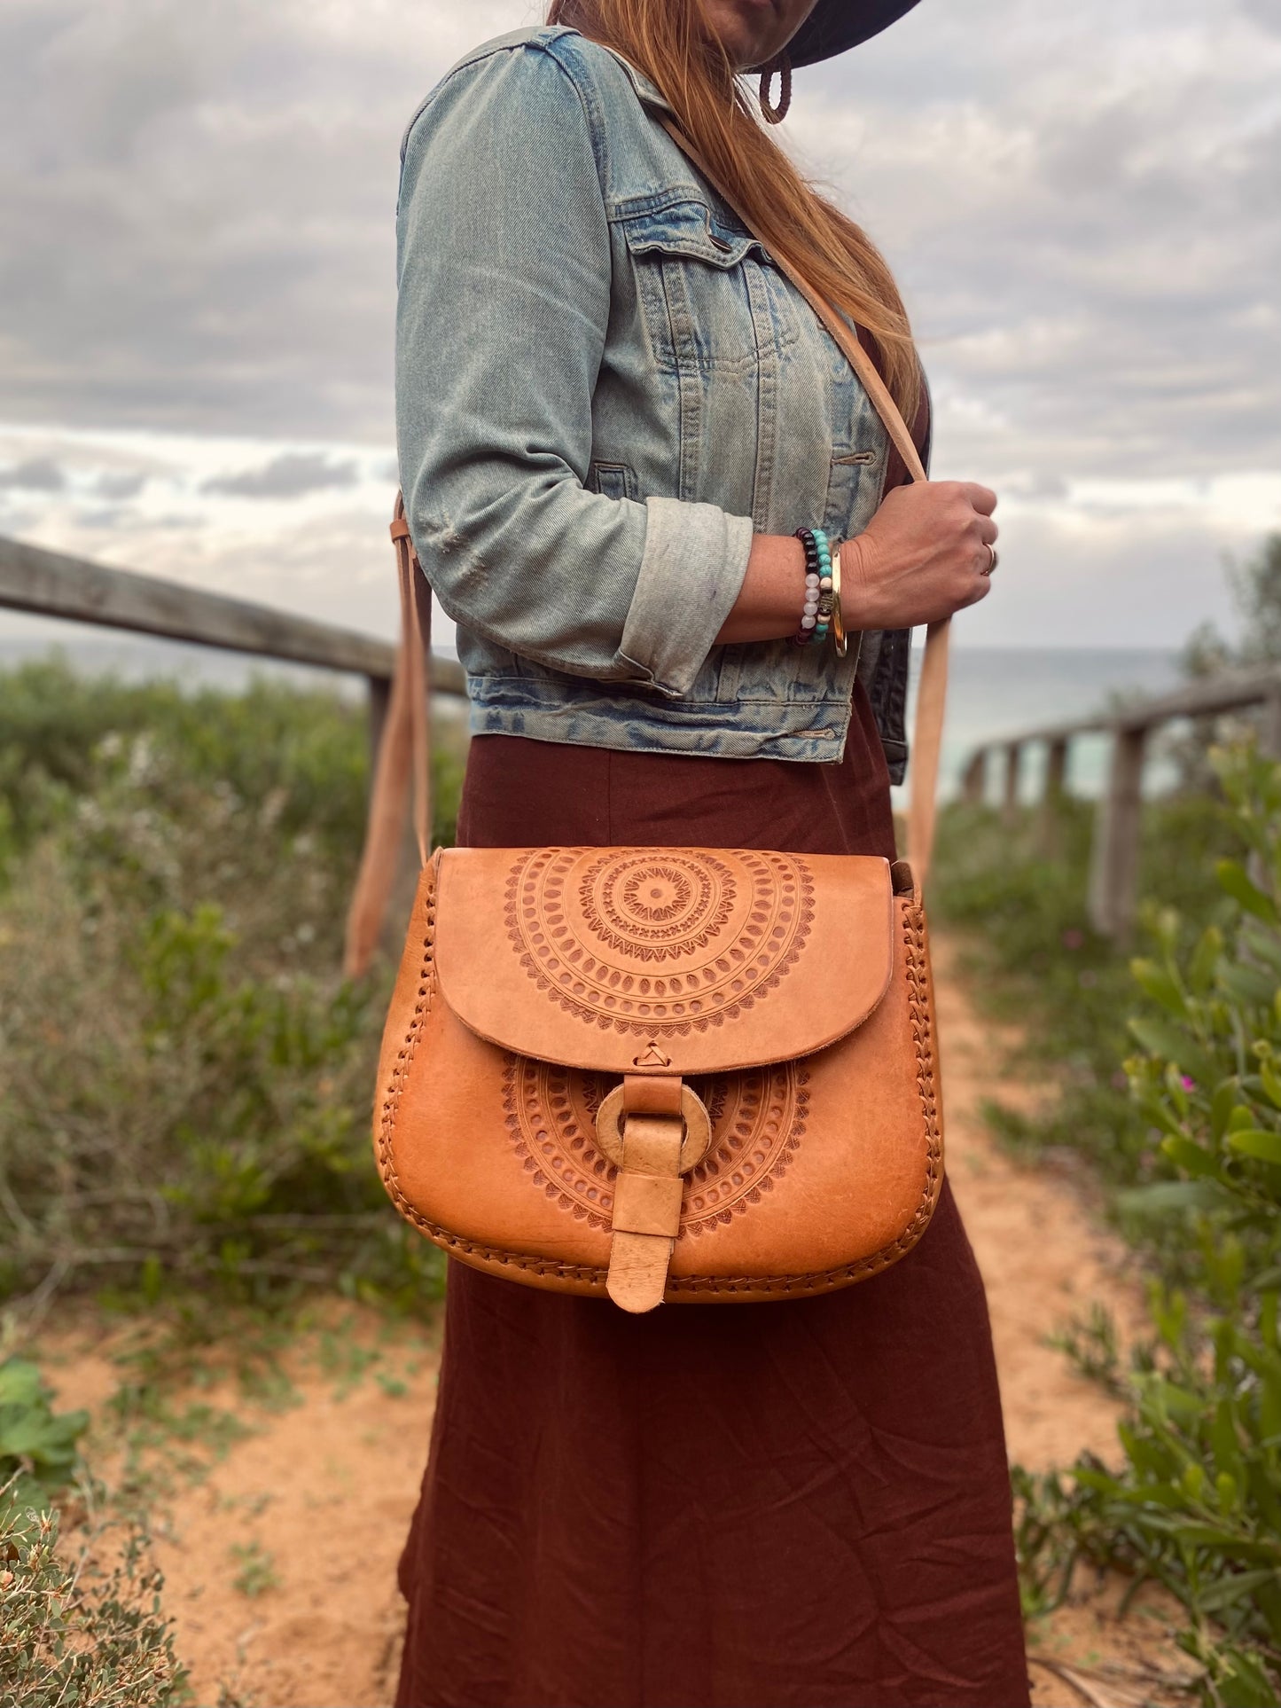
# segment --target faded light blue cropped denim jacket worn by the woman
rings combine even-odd
[[[856,649],[716,646],[753,531],[849,536],[886,436],[804,299],[572,29],[477,48],[405,135],[396,427],[477,733],[839,760]],[[799,611],[798,611],[799,615]],[[904,635],[864,637],[893,774]]]

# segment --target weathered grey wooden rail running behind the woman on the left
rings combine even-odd
[[[5,536],[0,536],[0,606],[364,676],[371,743],[377,752],[396,664],[396,649],[386,640]],[[432,659],[432,690],[465,695],[461,666]]]

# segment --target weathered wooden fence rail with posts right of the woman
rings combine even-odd
[[[1042,793],[1042,845],[1052,845],[1056,808],[1068,786],[1069,748],[1078,736],[1112,738],[1112,762],[1107,789],[1095,813],[1090,854],[1090,922],[1095,931],[1115,941],[1127,941],[1134,931],[1139,881],[1139,828],[1143,811],[1143,767],[1148,743],[1161,724],[1187,717],[1216,717],[1262,707],[1261,741],[1266,752],[1281,758],[1281,673],[1276,670],[1243,671],[1214,676],[1151,700],[1086,717],[1074,724],[1028,729],[977,748],[965,767],[962,793],[968,801],[987,794],[987,769],[1003,757],[1001,794],[1004,811],[1018,808],[1023,755],[1032,746],[1045,748],[1045,784]]]

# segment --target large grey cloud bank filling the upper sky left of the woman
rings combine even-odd
[[[528,15],[7,0],[9,418],[386,444],[400,132]]]

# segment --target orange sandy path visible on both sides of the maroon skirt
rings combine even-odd
[[[1108,1303],[1122,1329],[1138,1324],[1132,1259],[1069,1177],[1018,1167],[994,1148],[979,1103],[1027,1103],[1037,1088],[1003,1078],[1003,1042],[968,1006],[948,945],[938,984],[948,1168],[987,1281],[1011,1457],[1028,1469],[1064,1464],[1083,1447],[1110,1457],[1112,1402],[1044,1336],[1093,1300]],[[104,1416],[120,1375],[111,1349],[101,1339],[87,1349],[84,1331],[51,1346],[43,1337],[63,1404]],[[147,1498],[166,1602],[202,1708],[374,1708],[395,1688],[395,1565],[425,1460],[436,1331],[335,1307],[328,1327],[299,1336],[285,1365],[284,1409],[248,1404],[229,1383],[184,1395],[248,1424],[224,1457],[214,1452],[215,1424],[203,1436],[190,1431],[186,1465],[173,1464],[173,1447],[143,1450],[159,1477]],[[120,1442],[111,1445],[106,1426],[97,1436],[99,1469],[123,1471]],[[1035,1665],[1038,1708],[1172,1699],[1144,1682],[1179,1670],[1160,1609],[1117,1626],[1115,1594],[1114,1583],[1090,1585],[1030,1631],[1033,1653],[1086,1669],[1073,1684]]]

